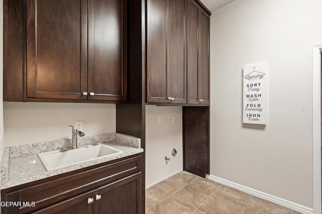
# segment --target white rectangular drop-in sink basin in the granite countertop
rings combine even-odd
[[[89,145],[77,149],[42,152],[38,154],[38,157],[48,171],[94,160],[100,157],[120,154],[122,152],[123,151],[99,143],[96,146]]]

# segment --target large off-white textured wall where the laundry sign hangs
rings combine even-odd
[[[213,176],[313,207],[312,46],[322,1],[237,0],[211,16]],[[268,65],[267,125],[242,118],[243,67]]]

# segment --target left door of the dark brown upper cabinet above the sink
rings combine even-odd
[[[87,99],[87,1],[26,4],[27,98]]]

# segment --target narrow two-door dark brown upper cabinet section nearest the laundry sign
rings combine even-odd
[[[210,104],[210,16],[195,1],[187,9],[188,103]]]

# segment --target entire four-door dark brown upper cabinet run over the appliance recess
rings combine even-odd
[[[148,103],[209,105],[210,14],[199,1],[147,1]]]

